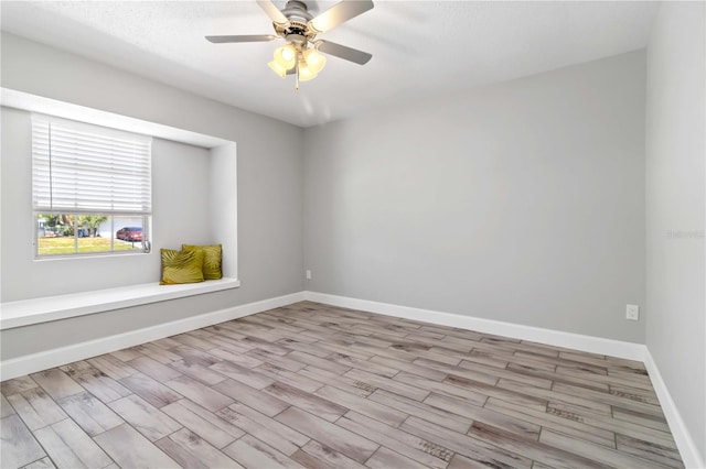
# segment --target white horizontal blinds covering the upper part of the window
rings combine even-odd
[[[150,215],[149,137],[34,116],[34,211]]]

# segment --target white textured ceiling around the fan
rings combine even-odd
[[[278,7],[285,1],[275,0]],[[307,1],[315,14],[335,2]],[[2,30],[301,127],[377,106],[642,48],[655,2],[381,1],[322,34],[373,54],[329,57],[312,81],[267,67],[280,42],[211,44],[204,35],[269,34],[254,1],[2,1]]]

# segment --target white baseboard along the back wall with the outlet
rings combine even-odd
[[[483,319],[452,313],[441,313],[431,309],[419,309],[389,303],[370,302],[367,299],[350,298],[345,296],[328,295],[324,293],[304,292],[304,298],[311,302],[325,303],[352,309],[361,309],[405,319],[439,324],[479,332],[494,334],[513,339],[530,340],[556,347],[581,350],[590,353],[609,355],[611,357],[642,361],[645,347],[642,343],[624,342],[601,337],[584,336],[541,327],[523,326],[500,320]]]

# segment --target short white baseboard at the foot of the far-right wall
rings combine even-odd
[[[660,369],[654,362],[652,353],[650,353],[650,350],[646,348],[644,356],[644,367],[650,374],[652,386],[654,388],[654,392],[657,394],[657,400],[660,401],[660,405],[662,406],[662,412],[664,412],[666,422],[670,425],[670,429],[672,430],[674,443],[676,443],[676,447],[680,449],[680,455],[682,455],[684,466],[694,469],[706,468],[706,462],[702,459],[698,452],[698,448],[696,447],[696,444],[694,443],[688,428],[686,428],[686,424],[684,424],[682,414],[676,408],[676,404],[672,400],[672,395],[670,394],[670,390],[667,389],[666,383],[662,379]]]

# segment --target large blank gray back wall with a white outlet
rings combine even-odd
[[[304,133],[307,290],[641,342],[645,54]]]

